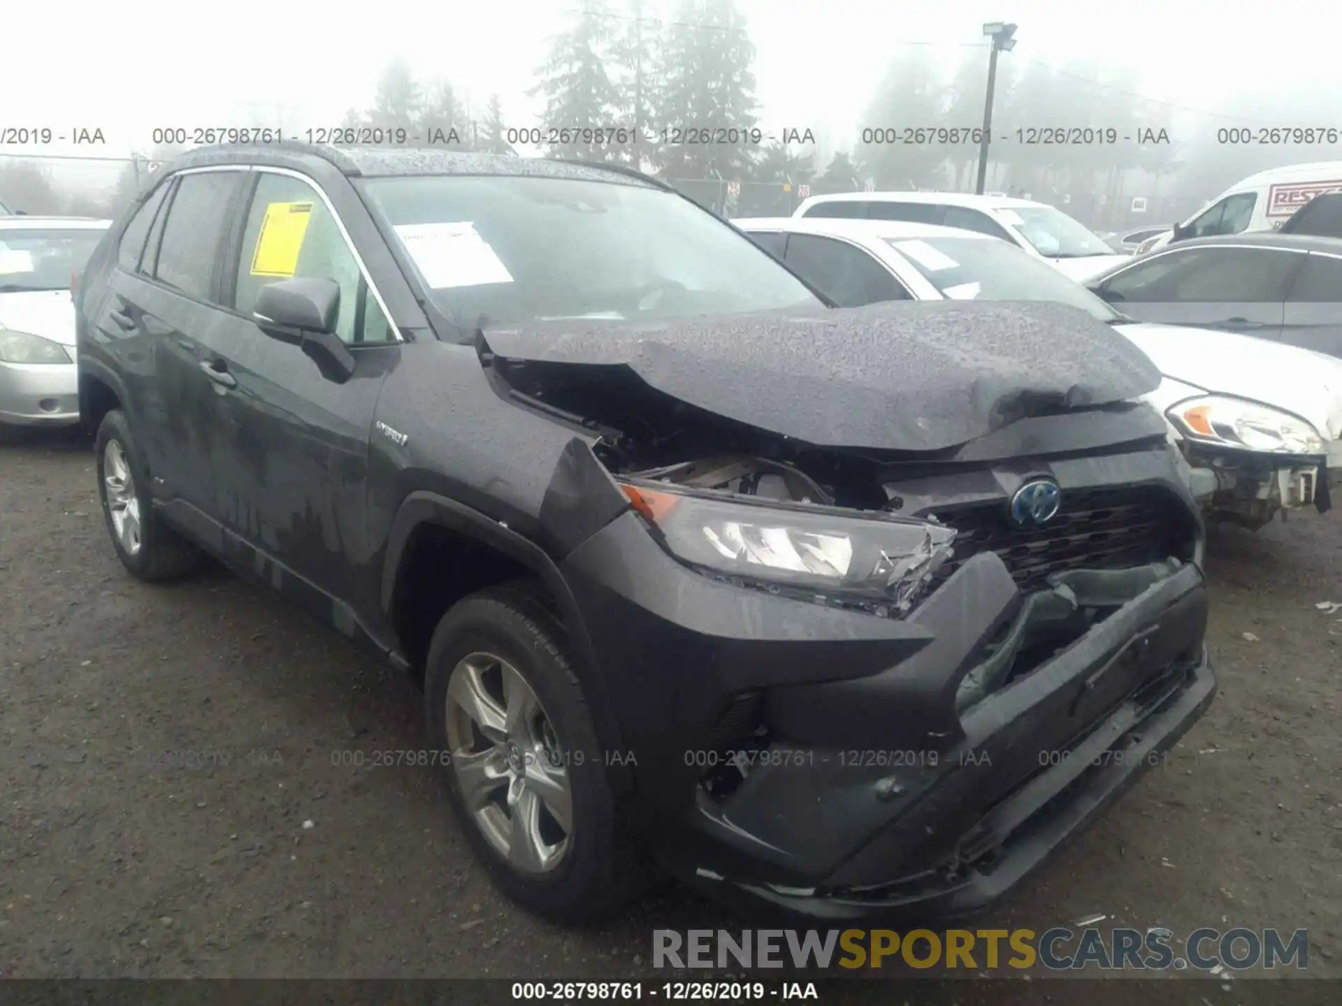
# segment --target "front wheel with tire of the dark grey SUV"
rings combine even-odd
[[[429,644],[428,732],[475,854],[514,901],[556,921],[607,916],[637,893],[565,632],[523,586],[454,605]]]

